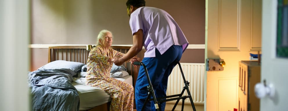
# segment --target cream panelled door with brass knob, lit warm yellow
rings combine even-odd
[[[237,108],[239,61],[261,50],[261,0],[206,0],[205,58],[224,59],[223,71],[206,71],[206,111]]]

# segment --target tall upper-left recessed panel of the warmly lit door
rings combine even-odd
[[[238,1],[219,0],[218,15],[218,46],[219,50],[239,50],[240,40],[238,35]]]

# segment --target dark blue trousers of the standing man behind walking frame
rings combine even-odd
[[[153,58],[143,58],[142,62],[145,64],[150,81],[152,83],[155,96],[165,97],[167,90],[167,82],[170,73],[174,66],[176,66],[174,61],[180,61],[182,56],[182,46],[172,45],[165,53],[162,55],[156,49],[156,57]],[[138,78],[135,84],[135,102],[136,109],[140,111],[148,95],[148,80],[145,75],[143,66],[140,67]],[[152,98],[152,95],[151,95]],[[164,111],[166,103],[160,104],[160,110]],[[145,111],[155,111],[154,101],[147,102],[145,106]]]

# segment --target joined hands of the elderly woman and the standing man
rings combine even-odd
[[[134,63],[134,62],[141,62],[141,59],[140,59],[140,58],[137,58],[137,57],[133,57],[133,58],[130,59],[130,61],[131,61],[131,64],[132,64],[134,67],[137,67],[138,65],[134,65],[133,63]],[[119,57],[114,57],[114,58],[109,58],[109,59],[108,59],[108,62],[114,63],[114,64],[117,65],[117,66],[120,66],[120,65],[122,65],[122,64],[125,62],[125,60],[122,60],[122,59],[119,58]]]

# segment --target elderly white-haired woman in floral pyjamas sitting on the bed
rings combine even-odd
[[[133,86],[110,77],[114,57],[124,55],[111,48],[112,37],[108,30],[98,34],[97,46],[90,51],[87,61],[86,84],[111,95],[110,111],[133,111]]]

